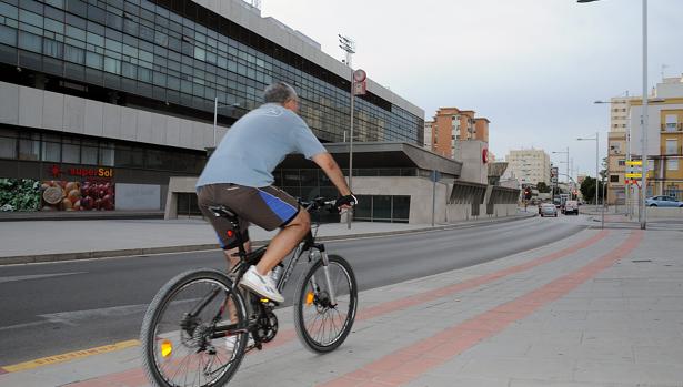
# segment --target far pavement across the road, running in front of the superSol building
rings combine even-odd
[[[354,222],[322,224],[321,241],[511,222],[533,213],[448,225]],[[250,227],[251,240],[265,243],[275,232]],[[218,248],[215,232],[203,220],[92,220],[0,222],[0,265],[84,259]]]

